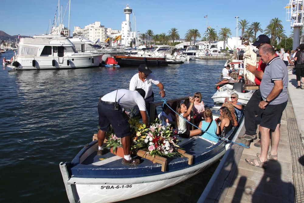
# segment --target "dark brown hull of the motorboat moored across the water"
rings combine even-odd
[[[134,56],[114,56],[119,65],[139,66],[147,64],[148,66],[167,66],[166,58],[134,57]]]

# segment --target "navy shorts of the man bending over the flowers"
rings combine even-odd
[[[114,105],[100,101],[98,103],[98,114],[100,130],[109,132],[110,125],[112,125],[117,137],[123,138],[130,135],[128,118],[124,116],[121,110],[115,111]]]

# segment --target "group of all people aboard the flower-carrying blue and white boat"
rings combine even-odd
[[[102,96],[98,102],[99,126],[98,131],[98,152],[102,155],[105,152],[105,135],[112,126],[117,137],[120,138],[124,158],[123,165],[136,166],[140,163],[139,159],[133,159],[130,152],[130,127],[128,117],[125,110],[133,107],[138,108],[143,123],[149,126],[151,112],[151,103],[154,102],[154,93],[152,84],[159,88],[161,97],[165,97],[164,85],[157,79],[147,65],[140,65],[138,73],[130,79],[129,89],[118,89]],[[163,111],[158,114],[158,118],[163,122],[164,126],[170,126],[175,129],[175,134],[182,138],[192,136],[202,136],[211,142],[218,142],[219,137],[225,137],[226,134],[236,126],[238,119],[238,111],[242,110],[242,105],[237,102],[238,95],[231,95],[231,101],[227,98],[223,106],[220,108],[220,117],[213,120],[212,111],[205,109],[202,100],[202,94],[196,92],[194,96],[189,96],[189,103],[171,103],[164,106]],[[187,121],[190,121],[190,113],[194,110],[194,124],[197,129],[190,130]],[[173,110],[172,110],[173,109]],[[236,112],[236,113],[235,113]],[[157,115],[155,109],[154,115]],[[218,125],[220,122],[220,125]]]

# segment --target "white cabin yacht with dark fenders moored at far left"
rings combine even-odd
[[[11,68],[18,70],[85,68],[99,66],[103,54],[77,52],[68,37],[21,38]]]

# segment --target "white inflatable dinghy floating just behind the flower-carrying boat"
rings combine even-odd
[[[243,83],[241,82],[234,83],[233,86],[230,84],[226,84],[220,87],[211,98],[213,99],[214,103],[222,104],[224,103],[226,97],[230,98],[231,94],[235,92],[239,95],[237,101],[243,104],[247,104],[252,94],[256,90],[243,90],[243,89],[244,89]]]

